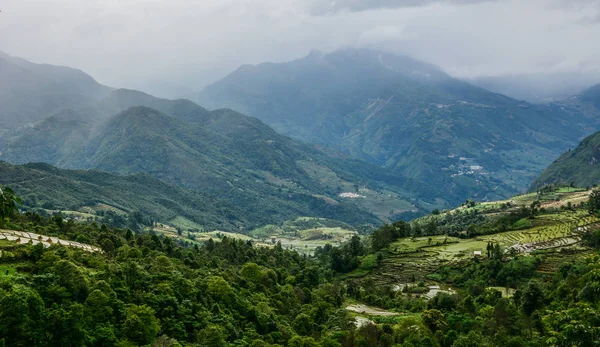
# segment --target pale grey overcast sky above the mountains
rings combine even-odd
[[[367,46],[458,77],[600,73],[600,0],[0,0],[0,50],[116,87]]]

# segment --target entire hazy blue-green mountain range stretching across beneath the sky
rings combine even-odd
[[[242,66],[198,95],[206,108],[5,54],[0,77],[0,160],[100,170],[107,180],[147,175],[214,199],[210,223],[186,216],[211,227],[230,216],[228,230],[299,216],[378,224],[504,198],[598,119],[594,88],[532,105],[358,49]]]

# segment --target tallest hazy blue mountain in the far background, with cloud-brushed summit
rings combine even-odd
[[[453,203],[525,190],[597,125],[577,110],[531,105],[427,63],[360,49],[245,65],[198,100],[425,181]]]

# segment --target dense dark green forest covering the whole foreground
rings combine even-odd
[[[419,278],[394,291],[376,277],[353,276],[361,269],[375,274],[394,242],[415,231],[426,235],[415,222],[306,256],[280,244],[223,237],[198,246],[60,214],[20,213],[10,188],[1,197],[0,229],[101,249],[0,240],[4,346],[600,344],[598,229],[583,235],[584,256],[565,256],[552,273],[537,271],[542,254],[508,256],[488,244],[482,257],[438,268],[429,278],[455,291],[426,298]],[[576,209],[597,214],[600,193]],[[393,315],[359,324],[346,309],[353,303]]]

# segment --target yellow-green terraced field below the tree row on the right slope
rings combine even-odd
[[[388,256],[369,277],[381,285],[421,280],[431,282],[427,275],[436,272],[444,264],[472,261],[475,251],[481,252],[485,257],[488,242],[500,244],[507,252],[546,252],[540,272],[549,273],[556,270],[562,262],[589,252],[579,245],[581,234],[587,230],[600,229],[600,219],[584,210],[537,216],[532,224],[528,229],[473,239],[446,236],[400,239],[389,246]]]

